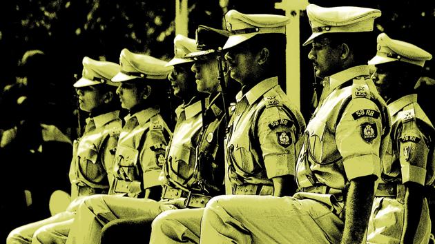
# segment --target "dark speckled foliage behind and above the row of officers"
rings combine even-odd
[[[299,1],[299,0],[291,0]],[[277,0],[189,0],[189,37],[204,24],[222,28],[222,17],[229,9],[244,13],[275,13]],[[319,6],[362,6],[382,10],[375,33],[387,32],[394,39],[409,41],[435,54],[431,38],[435,23],[433,0],[321,1]],[[47,79],[59,92],[59,103],[74,110],[72,78],[81,74],[84,56],[117,62],[122,48],[169,60],[175,37],[175,0],[18,0],[0,3],[0,87],[15,81],[16,66],[29,49],[50,55]],[[301,12],[301,43],[311,30],[305,11]],[[307,59],[309,48],[301,47],[302,111],[309,114],[313,73]],[[434,61],[427,62],[425,75],[435,77]],[[69,119],[65,123],[72,123]],[[71,124],[70,127],[74,127]]]

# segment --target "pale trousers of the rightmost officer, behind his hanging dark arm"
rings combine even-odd
[[[400,203],[397,199],[375,197],[371,208],[367,243],[400,243],[404,220],[404,203]],[[414,236],[414,243],[428,243],[430,231],[429,207],[426,199],[423,199],[420,223]]]

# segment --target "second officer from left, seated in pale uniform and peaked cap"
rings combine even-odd
[[[144,214],[136,209],[135,199],[160,199],[159,175],[164,151],[171,131],[160,116],[160,96],[156,87],[171,72],[166,61],[122,50],[121,71],[112,81],[119,82],[117,94],[122,108],[129,111],[126,124],[119,134],[115,161],[114,183],[108,195],[95,195],[79,205],[67,243],[97,243],[88,233],[100,232],[101,225],[115,218]],[[140,201],[140,200],[138,200]],[[125,211],[130,204],[130,211]]]

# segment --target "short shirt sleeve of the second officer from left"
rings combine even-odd
[[[149,130],[140,156],[144,189],[161,185],[159,180],[167,142],[163,130]]]

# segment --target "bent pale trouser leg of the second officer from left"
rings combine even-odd
[[[90,196],[79,205],[66,243],[100,243],[101,229],[106,223],[135,216],[155,218],[162,209],[164,207],[161,203],[151,199],[110,195]]]

